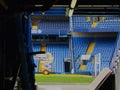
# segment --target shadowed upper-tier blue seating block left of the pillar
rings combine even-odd
[[[32,34],[66,34],[69,32],[69,19],[63,16],[40,17],[37,30],[32,30]]]

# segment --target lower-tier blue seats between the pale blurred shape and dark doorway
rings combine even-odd
[[[64,58],[69,58],[69,47],[66,44],[47,44],[47,52],[54,56],[52,71],[55,73],[64,72]]]

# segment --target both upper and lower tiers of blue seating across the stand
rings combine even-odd
[[[116,38],[113,37],[104,37],[105,34],[100,37],[88,37],[88,32],[118,32],[120,28],[120,20],[119,16],[72,16],[72,22],[70,22],[69,17],[63,17],[63,16],[40,16],[39,22],[37,24],[37,30],[32,30],[33,36],[38,35],[46,35],[46,37],[49,37],[49,35],[56,35],[55,38],[60,38],[61,35],[66,35],[67,38],[71,37],[72,42],[70,38],[67,40],[69,41],[68,44],[58,44],[58,39],[50,39],[49,43],[54,42],[54,44],[46,44],[45,48],[42,48],[41,46],[34,46],[33,51],[39,51],[40,47],[42,50],[45,50],[46,53],[50,52],[53,57],[54,61],[51,63],[51,70],[55,73],[64,73],[64,59],[65,58],[71,58],[70,55],[70,48],[72,48],[72,55],[73,55],[73,68],[75,70],[75,73],[81,73],[81,72],[90,72],[91,74],[95,71],[95,55],[100,53],[101,54],[101,67],[100,70],[102,70],[105,67],[110,68],[111,61],[113,59],[115,48],[116,47]],[[72,26],[70,27],[70,23],[72,23]],[[36,27],[35,27],[36,28]],[[71,29],[70,29],[71,28]],[[70,32],[70,30],[73,30],[73,32]],[[87,33],[84,37],[79,36],[67,36],[67,33],[70,32],[76,33],[76,32],[85,32]],[[116,33],[117,35],[118,33]],[[58,36],[57,36],[58,35]],[[82,35],[82,33],[81,33]],[[98,34],[97,34],[98,35]],[[43,40],[44,41],[44,40]],[[119,41],[119,40],[118,40]],[[117,42],[118,42],[117,41]],[[44,41],[45,42],[45,41]],[[48,43],[48,42],[47,42]],[[70,45],[72,44],[72,45]],[[72,47],[70,47],[72,46]],[[119,47],[119,46],[118,46]],[[117,49],[118,50],[118,49]],[[90,55],[89,60],[82,62],[81,57],[82,55]],[[36,61],[37,62],[37,61]],[[39,66],[45,66],[43,63],[38,62],[38,72],[41,72],[39,70],[42,67]],[[72,66],[71,66],[72,67]],[[72,68],[70,69],[72,71]]]

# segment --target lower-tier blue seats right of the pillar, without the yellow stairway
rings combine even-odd
[[[86,54],[89,43],[93,41],[95,42],[95,47],[91,57],[101,53],[101,70],[105,67],[109,68],[115,48],[115,38],[73,38],[74,61],[77,56]],[[87,62],[84,71],[78,68],[80,66],[80,61],[75,63],[76,72],[94,72],[94,61],[91,60]]]

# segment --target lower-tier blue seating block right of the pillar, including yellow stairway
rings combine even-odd
[[[113,57],[116,38],[96,38],[94,41],[91,38],[88,40],[89,43],[85,42],[86,39],[82,38],[82,40],[84,41],[82,44],[80,44],[82,40],[80,40],[79,38],[74,38],[74,39],[75,39],[74,60],[75,60],[76,73],[88,72],[90,75],[94,74],[94,64],[95,64],[94,55],[98,53],[101,53],[101,57],[102,57],[101,70],[104,69],[105,67],[110,68],[110,62]],[[78,46],[77,43],[79,43]],[[87,45],[85,46],[85,44]],[[86,48],[84,49],[83,47]],[[86,63],[81,63],[80,61],[81,55],[85,55],[85,54],[91,54],[91,57]]]

